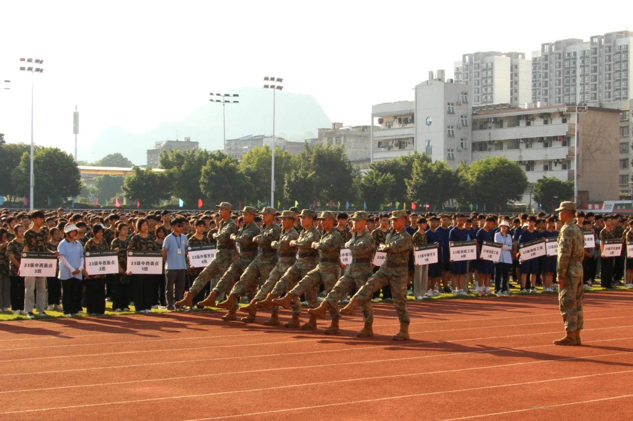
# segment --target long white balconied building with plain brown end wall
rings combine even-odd
[[[544,176],[573,181],[575,114],[564,105],[480,106],[472,119],[473,161],[505,156],[517,162],[530,183],[522,202],[529,202],[532,186]],[[579,114],[579,200],[618,197],[619,123],[620,112],[614,109],[589,107]]]

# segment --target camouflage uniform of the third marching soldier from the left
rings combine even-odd
[[[275,209],[272,209],[275,214]],[[264,209],[263,212],[266,212]],[[246,271],[242,274],[239,282],[233,286],[231,295],[240,296],[249,288],[257,289],[261,280],[268,279],[273,267],[277,264],[277,249],[272,247],[273,241],[279,240],[281,227],[273,221],[268,226],[262,226],[259,235],[253,238],[260,247],[255,259],[248,265]]]

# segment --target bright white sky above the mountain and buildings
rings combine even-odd
[[[109,126],[132,133],[184,119],[209,92],[261,86],[311,94],[332,121],[370,123],[372,104],[413,99],[429,70],[461,54],[633,30],[633,2],[577,7],[511,1],[6,1],[0,7],[0,133],[72,152]],[[0,88],[4,83],[0,83]],[[270,110],[262,110],[269,113]],[[279,116],[282,118],[282,116]],[[248,133],[246,133],[248,134]],[[157,139],[162,140],[162,139]],[[110,151],[117,152],[117,151]]]

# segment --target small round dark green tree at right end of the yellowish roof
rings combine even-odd
[[[171,185],[165,174],[156,173],[151,168],[132,167],[134,174],[125,177],[123,192],[130,200],[138,200],[141,207],[155,207],[161,200],[172,197]]]

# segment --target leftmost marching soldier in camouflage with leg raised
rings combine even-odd
[[[194,305],[194,297],[197,293],[199,293],[211,279],[216,276],[221,276],[227,271],[229,265],[235,260],[235,240],[231,237],[237,233],[237,226],[235,225],[235,221],[231,219],[233,205],[229,202],[222,202],[219,205],[215,205],[215,207],[219,209],[220,217],[222,218],[218,224],[218,232],[213,235],[213,240],[216,242],[215,259],[211,260],[211,263],[196,277],[184,298],[175,303],[179,307],[192,307]],[[209,305],[211,302],[208,300],[211,298],[211,295],[213,295],[213,293],[211,293],[206,300],[197,303],[198,306],[204,307],[204,305]],[[214,304],[215,298],[217,298],[217,296],[213,297]]]

